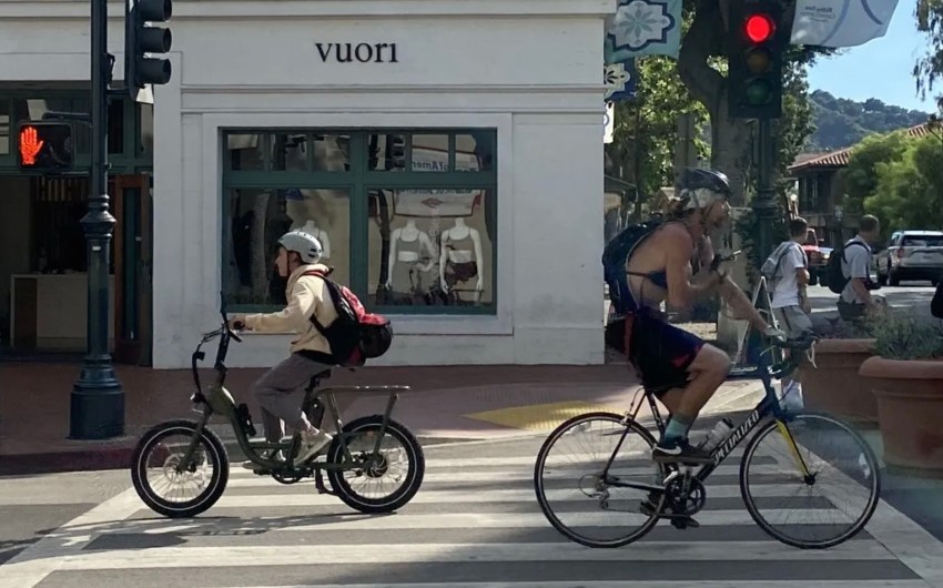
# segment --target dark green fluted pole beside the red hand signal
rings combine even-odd
[[[108,196],[108,101],[113,57],[108,53],[108,0],[91,0],[92,165],[89,211],[81,224],[88,247],[88,352],[72,387],[69,437],[124,434],[124,391],[108,346],[109,265],[115,220]]]

